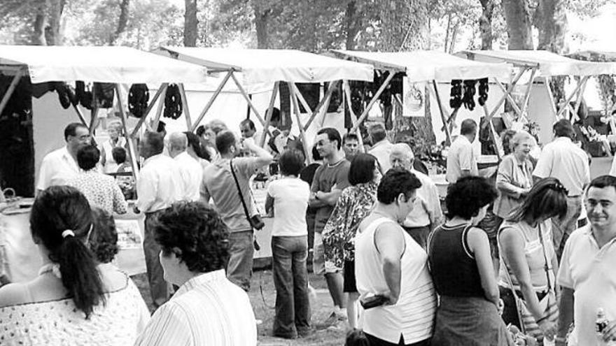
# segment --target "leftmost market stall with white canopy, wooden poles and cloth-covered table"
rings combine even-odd
[[[165,92],[168,83],[174,82],[178,85],[182,85],[183,82],[202,83],[207,78],[207,69],[203,66],[178,62],[160,55],[124,47],[0,46],[0,73],[5,76],[9,75],[11,78],[10,84],[1,96],[0,115],[3,114],[3,109],[10,102],[11,97],[17,96],[14,93],[18,89],[20,80],[27,80],[27,87],[30,89],[43,89],[41,101],[33,98],[31,110],[27,112],[27,120],[33,124],[36,159],[32,158],[31,161],[37,167],[35,172],[38,172],[38,165],[43,156],[60,146],[41,146],[41,142],[45,142],[45,139],[50,137],[62,138],[62,129],[69,122],[73,122],[73,119],[78,119],[91,132],[94,131],[99,110],[97,102],[92,102],[88,119],[85,115],[86,108],[75,103],[70,102],[66,108],[60,108],[57,98],[53,100],[51,97],[52,93],[49,91],[52,89],[48,89],[48,82],[109,83],[111,93],[115,93],[116,96],[120,94],[120,86],[123,84],[154,83],[160,85],[160,89],[132,133],[127,131],[129,115],[125,112],[126,108],[122,104],[122,99],[118,97],[120,120],[124,127],[133,172],[137,173],[134,136],[139,127],[144,124],[146,115],[152,110],[156,99]],[[58,88],[55,90],[58,91]],[[33,93],[29,91],[29,95],[31,94]],[[186,117],[186,120],[190,125],[190,117]],[[31,200],[15,200],[13,208],[6,208],[0,212],[0,268],[2,270],[0,277],[5,277],[5,280],[14,282],[29,280],[38,271],[39,254],[32,243],[29,231],[28,207],[30,204]],[[143,215],[131,214],[118,217],[117,226],[122,247],[118,254],[120,266],[127,268],[130,273],[145,271],[145,266],[141,263],[143,251],[140,248]],[[127,263],[126,266],[123,263]]]

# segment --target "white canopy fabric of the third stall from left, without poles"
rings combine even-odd
[[[508,64],[473,62],[435,50],[414,52],[360,52],[334,50],[337,55],[350,57],[358,62],[381,68],[405,71],[410,82],[437,80],[449,82],[452,79],[478,79],[496,77],[509,80],[511,68]]]

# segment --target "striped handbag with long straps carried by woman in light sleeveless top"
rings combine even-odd
[[[547,254],[545,253],[545,245],[543,243],[543,234],[541,232],[541,224],[539,224],[539,241],[541,243],[543,259],[545,261],[543,269],[547,277],[547,294],[540,299],[539,306],[540,306],[540,309],[543,311],[543,317],[545,317],[549,322],[556,323],[558,320],[559,311],[558,311],[558,305],[556,302],[556,294],[554,293],[554,287],[552,287],[552,280],[550,280],[550,277],[549,277],[549,264],[548,264],[549,262],[547,260]],[[500,238],[498,240],[498,244],[500,246]],[[533,336],[538,341],[541,341],[543,340],[543,333],[541,329],[539,328],[539,325],[535,321],[535,317],[533,317],[533,314],[528,310],[528,307],[526,306],[526,301],[524,301],[524,298],[521,298],[521,296],[519,296],[517,294],[517,291],[514,289],[513,282],[511,280],[511,275],[509,272],[509,267],[507,267],[507,262],[505,261],[505,258],[503,257],[502,252],[500,252],[500,256],[503,259],[503,264],[505,264],[505,273],[507,274],[507,283],[509,284],[512,295],[514,297],[522,333],[529,335],[529,336]]]

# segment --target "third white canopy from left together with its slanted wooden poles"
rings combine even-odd
[[[451,128],[453,127],[457,109],[449,115],[445,109],[437,88],[437,82],[449,82],[451,80],[471,80],[479,78],[494,78],[496,80],[509,80],[511,68],[505,63],[473,62],[462,59],[454,55],[434,50],[414,51],[414,52],[360,52],[349,50],[334,50],[335,55],[343,59],[351,59],[355,62],[372,64],[374,69],[381,73],[388,72],[389,75],[379,87],[377,92],[368,103],[367,107],[360,115],[358,122],[353,129],[359,127],[363,122],[370,108],[377,101],[381,93],[391,82],[395,73],[406,73],[409,82],[431,82],[430,93],[437,100],[444,131],[447,136],[447,143],[451,143]],[[348,85],[345,86],[346,89]],[[348,92],[350,94],[350,92]],[[396,98],[400,103],[400,99]],[[498,142],[495,140],[495,143]],[[498,147],[498,145],[497,145]]]

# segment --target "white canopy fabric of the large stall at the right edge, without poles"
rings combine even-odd
[[[508,62],[514,66],[538,67],[539,75],[615,74],[614,62],[584,62],[546,50],[465,50],[457,53],[477,62]]]

